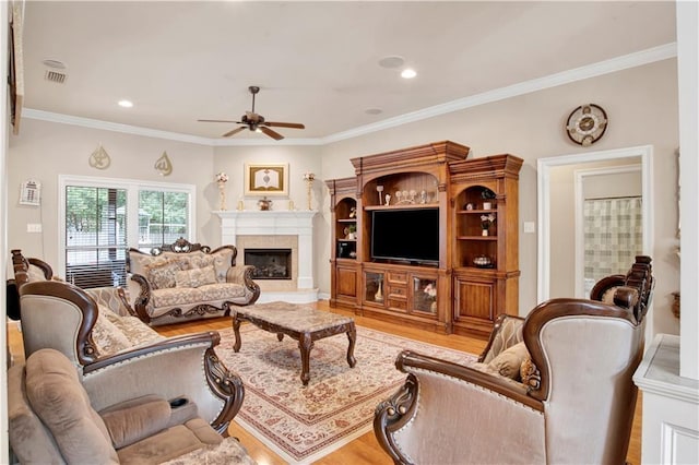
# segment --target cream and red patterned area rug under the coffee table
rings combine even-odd
[[[240,327],[242,346],[233,350],[233,330],[221,331],[216,353],[245,384],[234,421],[291,464],[310,463],[371,429],[376,406],[405,381],[395,369],[403,349],[467,363],[475,356],[357,327],[355,358],[346,361],[347,336],[317,341],[310,353],[310,381],[300,381],[298,343],[252,324]]]

